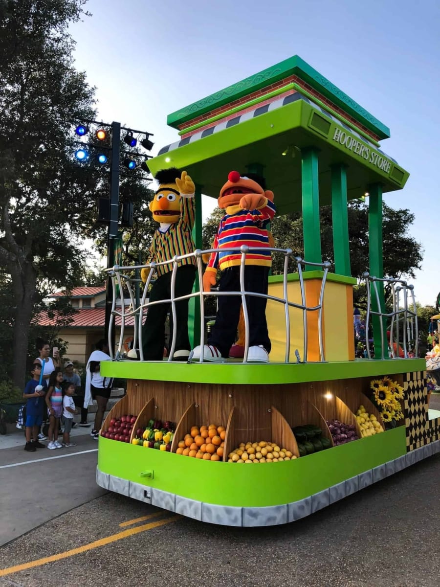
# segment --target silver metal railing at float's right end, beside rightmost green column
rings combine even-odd
[[[371,359],[370,343],[368,341],[368,328],[370,325],[370,316],[378,316],[380,325],[381,340],[384,341],[384,324],[383,318],[391,318],[390,326],[390,353],[392,359],[405,358],[408,359],[408,349],[414,349],[414,356],[418,356],[418,323],[417,323],[417,307],[415,305],[414,285],[408,285],[403,279],[394,278],[378,278],[365,272],[363,275],[365,279],[365,287],[367,289],[367,317],[365,319],[365,332],[367,333],[367,353],[368,358]],[[391,288],[392,310],[386,312],[385,308],[381,306],[378,286],[381,288],[384,285],[389,285]],[[410,299],[408,307],[408,297]],[[378,311],[371,309],[372,298],[374,298]],[[402,331],[402,345],[404,357],[399,357],[400,348],[400,332]],[[395,333],[395,335],[394,335]],[[397,353],[394,350],[397,349]],[[382,345],[382,356],[385,358],[385,345]]]

